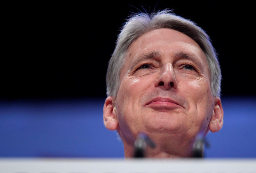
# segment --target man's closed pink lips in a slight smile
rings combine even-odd
[[[181,106],[177,101],[170,98],[156,97],[145,104],[146,107],[152,107],[155,109],[173,109]]]

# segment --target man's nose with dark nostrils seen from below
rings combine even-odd
[[[161,71],[161,75],[155,81],[155,87],[162,87],[165,90],[177,88],[177,81],[171,63],[167,63],[164,65]]]

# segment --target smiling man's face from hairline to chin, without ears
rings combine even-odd
[[[156,29],[127,52],[115,100],[118,133],[132,143],[141,131],[157,140],[207,132],[213,111],[204,53],[187,35]],[[180,140],[182,140],[180,138]]]

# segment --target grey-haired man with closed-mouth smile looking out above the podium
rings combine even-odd
[[[209,37],[170,11],[136,14],[118,35],[107,72],[105,127],[126,158],[140,132],[146,157],[191,157],[196,136],[223,125],[220,66]]]

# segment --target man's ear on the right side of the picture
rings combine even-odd
[[[215,105],[212,111],[212,117],[209,123],[209,129],[211,132],[217,132],[223,125],[223,108],[219,97],[215,98]]]

